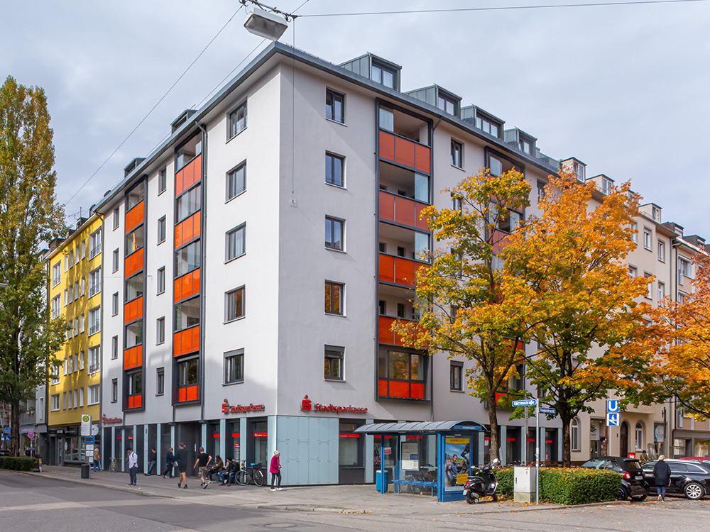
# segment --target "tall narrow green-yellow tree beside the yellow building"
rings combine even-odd
[[[50,322],[42,246],[64,231],[55,201],[53,131],[40,87],[0,87],[0,401],[11,407],[19,454],[20,404],[47,381],[65,323]]]

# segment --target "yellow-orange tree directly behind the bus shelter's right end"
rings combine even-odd
[[[452,208],[422,212],[437,250],[431,266],[417,272],[413,304],[420,319],[395,322],[393,330],[405,345],[476,362],[469,393],[488,401],[493,460],[500,445],[497,394],[517,376],[529,336],[520,311],[527,302],[518,298],[517,279],[505,275],[496,255],[508,233],[517,231],[515,213],[529,205],[530,184],[515,170],[500,176],[480,170],[446,192]]]

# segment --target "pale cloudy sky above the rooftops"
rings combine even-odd
[[[290,12],[303,1],[266,4]],[[663,221],[710,240],[710,1],[306,16],[590,1],[308,0],[280,40],[335,64],[364,52],[398,63],[403,91],[437,83],[535,136],[543,153],[577,157],[588,177],[630,180],[662,207]],[[69,223],[133,157],[151,153],[184,109],[204,104],[266,47],[242,26],[245,10],[234,15],[240,8],[237,0],[2,2],[0,75],[45,89]]]

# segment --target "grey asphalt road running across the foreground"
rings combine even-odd
[[[143,497],[21,473],[0,472],[0,531],[710,531],[710,501],[673,499],[571,510],[498,514],[329,514],[216,506]]]

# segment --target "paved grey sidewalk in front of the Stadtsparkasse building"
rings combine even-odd
[[[373,484],[348,486],[285,486],[283,491],[271,492],[268,487],[220,486],[215,482],[206,489],[200,488],[200,479],[188,477],[188,489],[178,488],[178,480],[163,479],[160,475],[138,475],[138,486],[127,486],[128,473],[99,471],[92,472],[90,479],[81,478],[79,467],[43,466],[43,472],[23,473],[65,482],[90,486],[119,489],[146,497],[169,497],[193,504],[214,506],[244,506],[285,511],[325,511],[354,514],[385,514],[411,516],[444,514],[488,514],[511,511],[535,511],[562,509],[558,504],[521,504],[512,501],[493,502],[490,499],[480,504],[466,504],[464,501],[437,502],[436,497],[418,494],[395,494],[376,492]],[[606,503],[614,504],[614,503]]]

